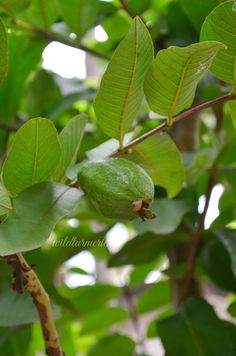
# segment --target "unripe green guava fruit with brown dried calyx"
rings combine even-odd
[[[84,163],[78,182],[95,208],[105,217],[133,220],[153,219],[148,208],[154,184],[143,168],[123,158]]]

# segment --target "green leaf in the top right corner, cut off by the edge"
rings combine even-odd
[[[226,1],[217,6],[206,18],[201,30],[201,41],[215,40],[227,46],[226,51],[220,51],[210,68],[219,79],[228,83],[235,82],[235,36],[236,11],[233,11],[234,1]]]

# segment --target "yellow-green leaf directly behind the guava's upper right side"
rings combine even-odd
[[[167,133],[157,133],[137,144],[127,158],[140,164],[173,198],[182,188],[184,165],[181,154]]]

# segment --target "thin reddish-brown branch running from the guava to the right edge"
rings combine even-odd
[[[207,101],[207,102],[205,102],[203,104],[194,106],[191,109],[186,110],[186,111],[182,112],[181,114],[175,116],[173,118],[173,124],[175,124],[178,121],[182,121],[182,120],[190,117],[191,115],[195,114],[198,111],[210,108],[213,105],[220,104],[220,103],[223,103],[225,101],[233,100],[235,98],[236,98],[236,94],[235,93],[229,93],[229,94],[220,96],[219,98]],[[157,132],[164,131],[164,130],[166,130],[168,128],[169,128],[169,126],[168,126],[167,121],[166,121],[163,124],[155,127],[154,129],[146,132],[144,135],[142,135],[142,136],[136,138],[135,140],[131,141],[126,146],[124,146],[122,150],[117,150],[117,151],[113,152],[110,155],[110,157],[117,157],[117,156],[126,154],[132,147],[134,147],[137,144],[147,140],[149,137],[155,135]]]

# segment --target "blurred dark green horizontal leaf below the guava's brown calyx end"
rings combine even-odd
[[[148,263],[155,260],[169,247],[185,243],[188,240],[189,234],[182,231],[170,235],[146,233],[128,241],[119,252],[110,258],[108,266]]]

